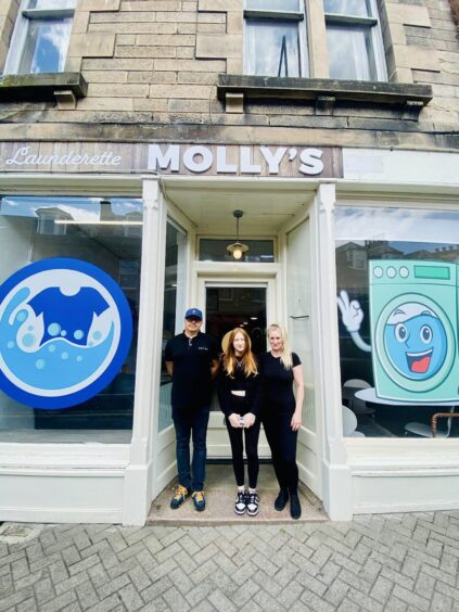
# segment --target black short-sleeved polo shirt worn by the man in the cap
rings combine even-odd
[[[164,359],[174,362],[174,408],[199,408],[211,404],[214,391],[211,366],[217,358],[217,341],[206,333],[188,337],[182,332],[168,341]]]

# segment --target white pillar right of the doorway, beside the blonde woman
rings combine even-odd
[[[336,264],[334,239],[335,186],[321,184],[311,207],[311,235],[317,258],[314,316],[317,321],[317,388],[323,419],[323,505],[334,521],[353,515],[352,474],[343,441],[340,346],[337,335]]]

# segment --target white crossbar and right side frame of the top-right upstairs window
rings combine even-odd
[[[327,13],[323,9],[326,28],[329,25],[339,25],[345,27],[346,25],[349,29],[353,26],[364,26],[369,29],[371,38],[371,47],[373,51],[375,79],[379,81],[387,81],[387,68],[385,62],[384,43],[382,39],[381,31],[381,18],[378,10],[377,0],[366,0],[367,5],[370,9],[371,16],[369,17],[358,17],[353,15],[344,15],[336,13]],[[339,79],[339,77],[337,77]]]

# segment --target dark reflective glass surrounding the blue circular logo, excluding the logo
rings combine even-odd
[[[136,229],[133,235],[127,229]],[[39,410],[0,393],[0,439],[129,442],[133,416],[142,241],[137,199],[5,195],[0,205],[0,283],[31,262],[74,257],[98,266],[122,288],[133,335],[128,356],[101,393],[67,409]]]

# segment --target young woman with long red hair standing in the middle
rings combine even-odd
[[[235,328],[228,334],[217,377],[220,408],[231,443],[232,466],[238,493],[234,512],[250,517],[258,513],[258,437],[262,408],[262,384],[258,367],[252,353],[251,339],[245,330]],[[248,468],[248,490],[244,486],[244,438]]]

